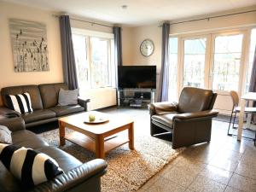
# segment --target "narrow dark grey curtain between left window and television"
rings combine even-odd
[[[117,66],[123,65],[122,59],[122,28],[113,26],[114,55]]]

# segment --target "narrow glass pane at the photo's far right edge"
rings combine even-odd
[[[251,32],[251,44],[250,44],[250,52],[249,52],[249,65],[247,70],[247,84],[246,84],[246,92],[249,91],[251,74],[253,69],[253,58],[254,58],[254,51],[256,49],[256,28],[254,28]]]

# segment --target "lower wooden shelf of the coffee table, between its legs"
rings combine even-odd
[[[68,141],[78,144],[79,146],[86,148],[94,153],[96,153],[96,143],[95,140],[85,136],[82,133],[77,131],[73,131],[70,134],[67,134],[65,137]],[[129,139],[120,136],[113,136],[113,137],[106,137],[104,139],[104,154],[108,153],[108,151],[112,150],[113,148],[118,148],[125,143],[129,143]]]

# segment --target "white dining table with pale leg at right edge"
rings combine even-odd
[[[246,103],[249,102],[249,106],[253,105],[253,102],[256,102],[256,92],[247,92],[246,94],[241,96],[240,99],[240,113],[239,113],[239,125],[237,132],[237,141],[241,141],[241,135],[243,130],[243,118],[244,118],[244,110],[246,107]],[[249,127],[251,123],[252,114],[247,115],[247,127]]]

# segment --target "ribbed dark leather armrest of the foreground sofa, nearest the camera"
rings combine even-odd
[[[41,183],[30,192],[62,192],[69,191],[78,185],[86,183],[86,181],[92,177],[101,177],[107,172],[107,162],[105,160],[97,159],[90,160],[81,166],[74,168],[73,170],[63,173],[51,181]],[[84,189],[85,190],[85,189]],[[86,189],[90,191],[90,189]]]

